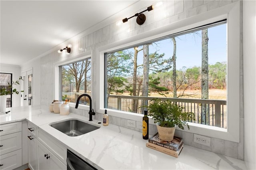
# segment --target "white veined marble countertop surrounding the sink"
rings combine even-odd
[[[74,113],[60,115],[50,113],[47,106],[29,106],[12,108],[8,115],[0,115],[0,124],[27,119],[99,169],[247,169],[242,160],[187,145],[184,145],[180,156],[175,158],[146,147],[147,140],[142,139],[141,132],[111,124],[104,127],[96,120],[89,123],[100,126],[99,129],[76,137],[67,136],[49,126],[50,123],[72,118],[88,122],[88,118]]]

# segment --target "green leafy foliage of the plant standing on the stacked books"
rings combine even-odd
[[[194,113],[183,112],[183,107],[169,100],[152,99],[150,105],[146,108],[148,108],[148,115],[154,119],[154,123],[159,122],[161,127],[175,127],[177,125],[184,129],[184,125],[186,125],[190,129],[187,121],[195,119]]]

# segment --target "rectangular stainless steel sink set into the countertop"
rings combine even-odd
[[[56,122],[50,124],[50,126],[56,128],[57,130],[68,136],[80,136],[82,134],[86,134],[100,128],[98,126],[79,121],[78,119],[70,119]]]

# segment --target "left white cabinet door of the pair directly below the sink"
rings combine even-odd
[[[50,152],[40,142],[37,142],[38,170],[50,170]]]

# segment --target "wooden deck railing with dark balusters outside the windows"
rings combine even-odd
[[[64,93],[62,100],[70,99],[72,103],[76,103],[78,96],[82,94],[83,93]],[[154,98],[156,97],[108,95],[107,107],[108,109],[118,111],[143,114],[144,108],[142,108],[142,106],[150,104],[151,100]],[[177,105],[184,107],[184,112],[193,112],[195,114],[195,120],[187,120],[189,122],[226,128],[226,100],[166,97],[158,97],[158,99],[176,102]],[[90,105],[86,98],[81,99],[79,104]]]

